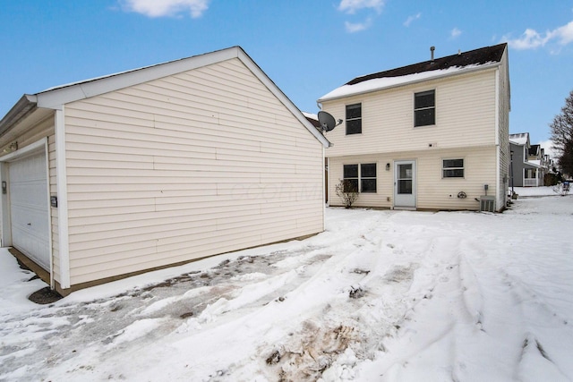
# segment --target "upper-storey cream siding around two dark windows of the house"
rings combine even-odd
[[[327,157],[416,151],[433,147],[496,143],[495,69],[324,102],[322,109],[345,119],[345,106],[362,103],[362,134],[346,135],[342,124],[327,138]],[[435,89],[436,124],[414,127],[414,95]]]

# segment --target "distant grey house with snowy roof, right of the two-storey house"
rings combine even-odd
[[[514,187],[543,186],[546,168],[542,166],[542,152],[539,145],[531,145],[528,132],[509,135],[509,149],[512,161],[509,172],[513,174]]]

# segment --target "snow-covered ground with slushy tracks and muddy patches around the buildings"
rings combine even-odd
[[[573,196],[517,193],[503,214],[329,208],[310,239],[44,306],[2,250],[0,380],[571,380]]]

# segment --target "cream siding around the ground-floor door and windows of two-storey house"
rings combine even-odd
[[[394,197],[394,162],[415,160],[416,163],[416,208],[418,209],[470,209],[479,208],[475,198],[483,195],[483,184],[488,184],[489,195],[495,195],[496,177],[495,152],[492,147],[469,149],[427,149],[417,152],[393,152],[364,156],[329,158],[329,193],[331,206],[341,206],[336,195],[336,183],[343,177],[343,166],[376,163],[376,193],[360,193],[355,207],[392,208]],[[464,178],[442,178],[442,160],[464,159]],[[386,164],[390,170],[386,171]],[[458,192],[464,191],[466,199],[459,199]]]

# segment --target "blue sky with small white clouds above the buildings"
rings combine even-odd
[[[241,46],[301,110],[356,76],[509,42],[510,132],[573,90],[573,1],[26,0],[0,8],[0,115],[24,93]]]

